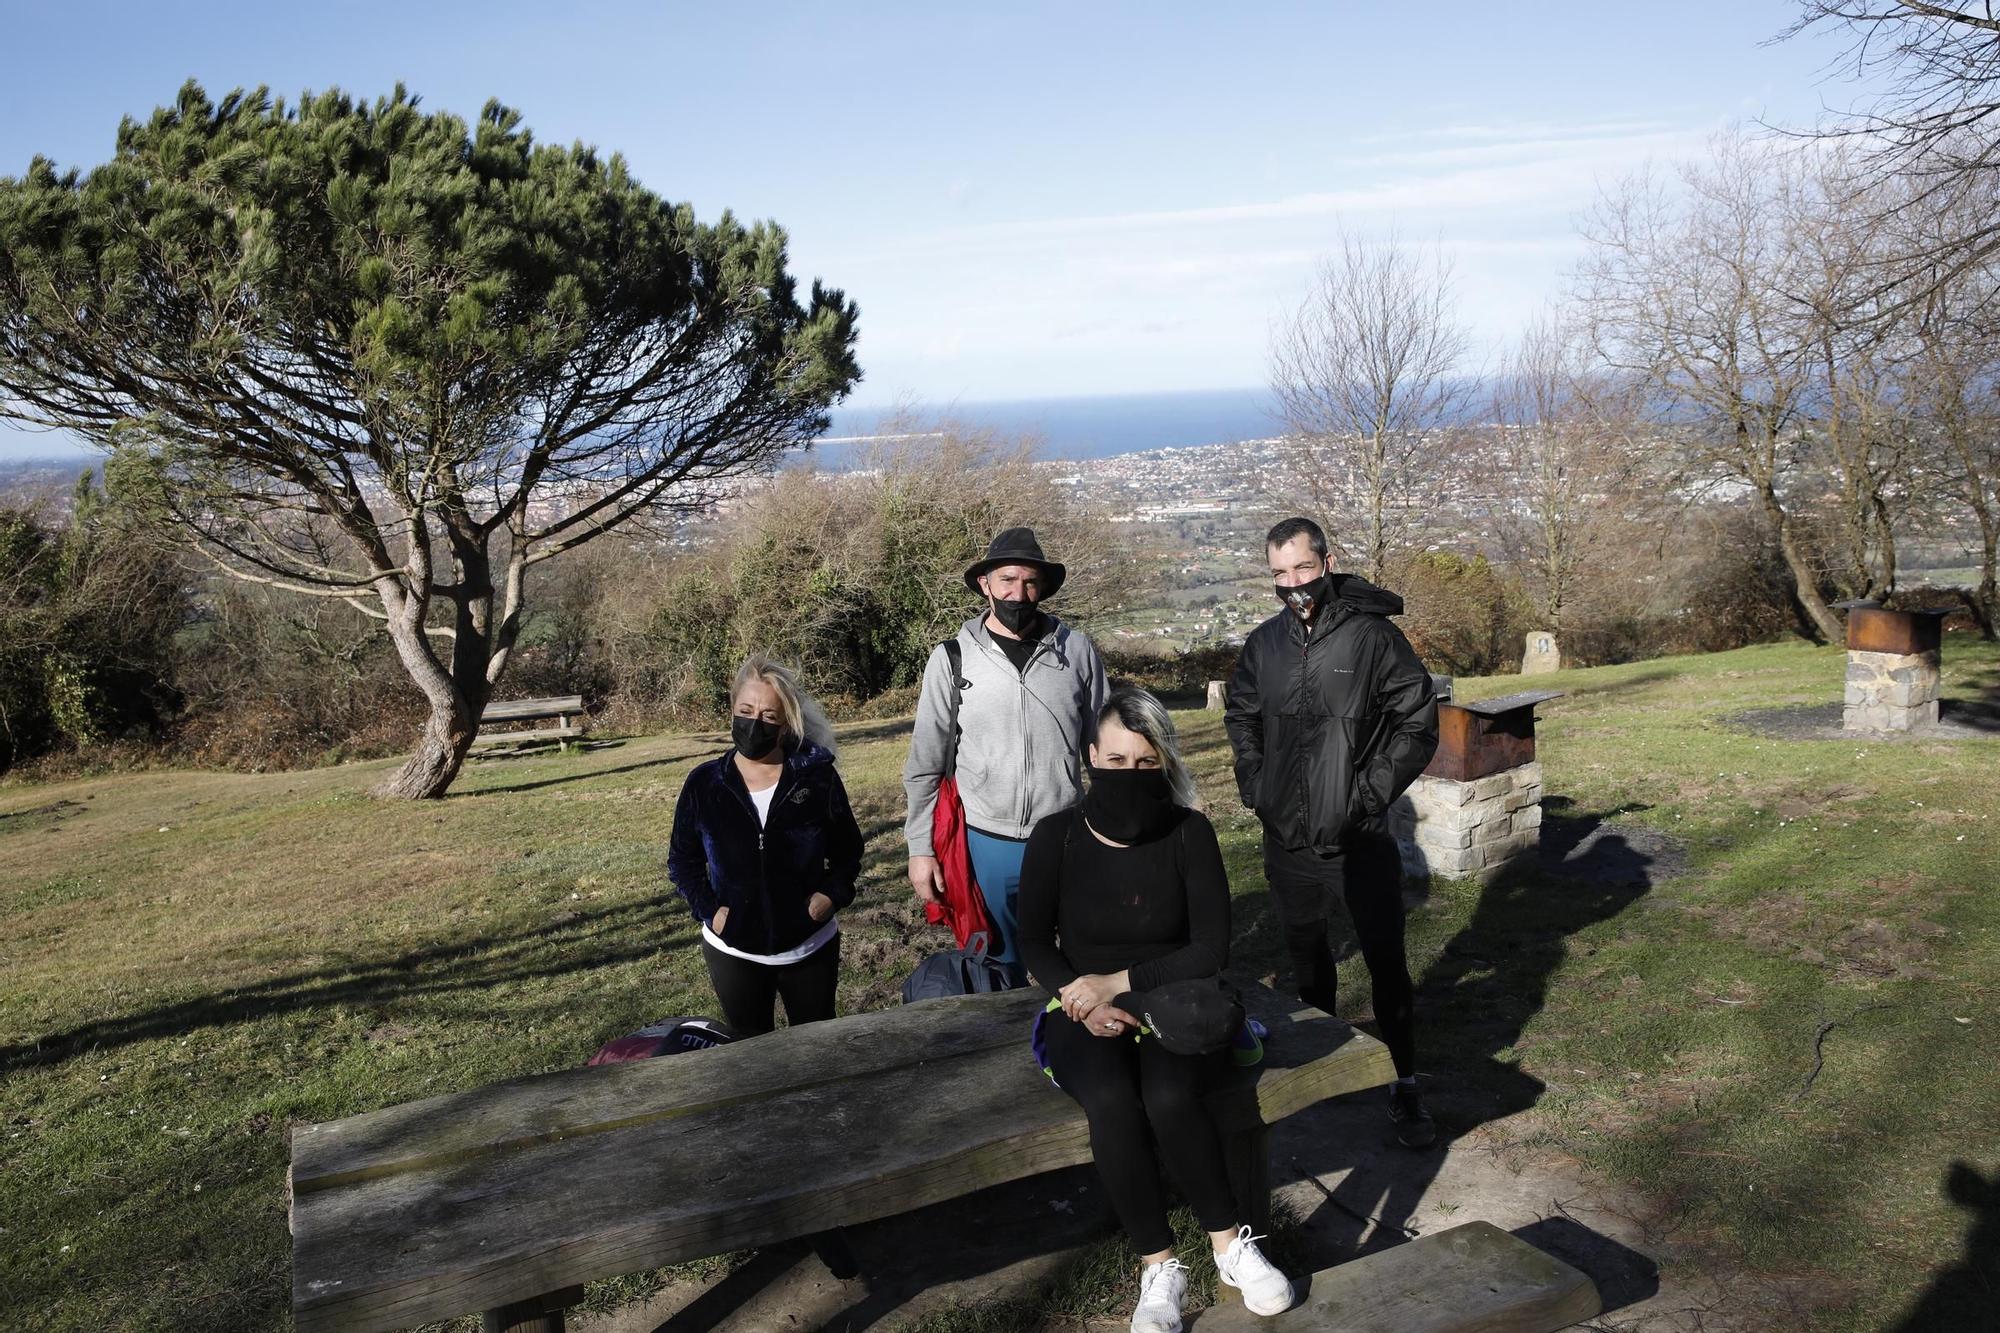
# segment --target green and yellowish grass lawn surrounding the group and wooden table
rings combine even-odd
[[[1628,859],[1684,873],[1436,883],[1410,923],[1446,1131],[1512,1117],[1636,1187],[1680,1261],[1790,1293],[1798,1327],[1830,1331],[1886,1327],[1962,1265],[1974,1219],[1946,1175],[2000,1169],[2000,735],[1778,741],[1726,721],[1836,701],[1840,681],[1838,650],[1800,644],[1538,679],[1570,691],[1540,729],[1550,835],[1612,821]],[[1952,640],[1946,695],[2000,695],[2000,652]],[[1276,919],[1220,721],[1180,721],[1238,965],[1268,973]],[[902,881],[902,731],[844,735],[872,849],[844,915],[854,1011],[894,1003],[938,937]],[[580,1065],[712,1011],[662,849],[682,775],[720,747],[476,761],[428,805],[372,801],[386,765],[0,785],[10,1317],[286,1327],[290,1125]],[[1358,965],[1342,999],[1366,1011]]]

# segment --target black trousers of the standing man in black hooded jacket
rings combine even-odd
[[[1402,853],[1386,833],[1356,831],[1334,855],[1284,849],[1264,835],[1264,879],[1284,923],[1298,997],[1334,1011],[1334,951],[1326,941],[1326,897],[1338,893],[1374,983],[1376,1025],[1396,1075],[1416,1073],[1416,987],[1402,949]]]

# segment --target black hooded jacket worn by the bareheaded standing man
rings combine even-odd
[[[1244,642],[1224,725],[1236,789],[1282,847],[1340,849],[1438,749],[1430,673],[1394,614],[1400,596],[1334,574],[1310,624],[1284,608]]]

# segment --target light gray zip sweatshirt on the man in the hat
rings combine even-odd
[[[1084,747],[1096,735],[1110,687],[1090,640],[1044,612],[1046,626],[1026,671],[994,642],[986,616],[958,626],[966,689],[958,725],[958,795],[980,833],[1024,839],[1038,821],[1084,795]],[[904,841],[912,857],[934,855],[930,819],[952,755],[952,669],[930,650],[916,699],[916,731],[902,765],[908,799]]]

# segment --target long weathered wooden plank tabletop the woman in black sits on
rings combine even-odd
[[[300,1333],[470,1311],[562,1329],[582,1283],[830,1231],[1090,1161],[1028,1053],[1038,989],[780,1029],[432,1097],[292,1135]],[[1268,991],[1264,1065],[1214,1095],[1250,1213],[1266,1127],[1394,1077],[1382,1043]]]

